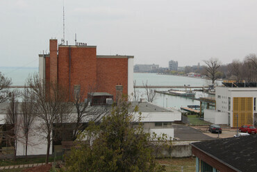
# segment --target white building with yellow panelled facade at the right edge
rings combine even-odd
[[[216,110],[204,110],[204,120],[238,127],[257,121],[256,83],[223,83],[216,87]]]

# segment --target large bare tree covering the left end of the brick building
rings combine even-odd
[[[65,121],[71,112],[67,103],[67,90],[57,83],[46,83],[38,75],[28,78],[31,94],[35,98],[35,115],[40,120],[38,131],[47,139],[46,163],[49,162],[50,144],[53,139],[53,124]]]

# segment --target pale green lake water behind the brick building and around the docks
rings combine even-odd
[[[5,76],[12,78],[13,85],[24,85],[26,78],[38,72],[37,67],[0,67],[0,71]],[[210,80],[202,78],[189,78],[185,76],[171,76],[171,75],[158,75],[158,74],[141,74],[134,73],[134,80],[136,85],[190,85],[190,86],[206,86],[210,84]],[[220,84],[220,82],[218,82]],[[145,98],[144,89],[138,89],[140,98]],[[167,89],[157,89],[159,91]],[[208,97],[208,94],[197,92],[196,97]],[[194,101],[191,98],[181,96],[169,96],[164,94],[156,94],[154,102],[162,107],[186,107],[187,105],[199,105],[199,101]]]

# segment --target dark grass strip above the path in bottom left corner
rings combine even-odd
[[[37,164],[37,163],[43,163],[45,162],[45,157],[33,157],[28,158],[27,161],[25,161],[25,158],[17,158],[14,160],[0,160],[0,166],[13,166],[13,165],[20,165],[20,164]],[[62,157],[56,157],[57,160],[62,160]],[[49,157],[49,162],[53,162],[54,157]]]

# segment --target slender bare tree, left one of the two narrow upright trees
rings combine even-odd
[[[6,125],[10,126],[10,130],[7,130],[6,136],[9,145],[14,146],[14,160],[16,160],[17,153],[17,139],[19,138],[19,117],[18,117],[19,103],[17,101],[17,92],[13,91],[10,95],[10,103],[6,109]]]

